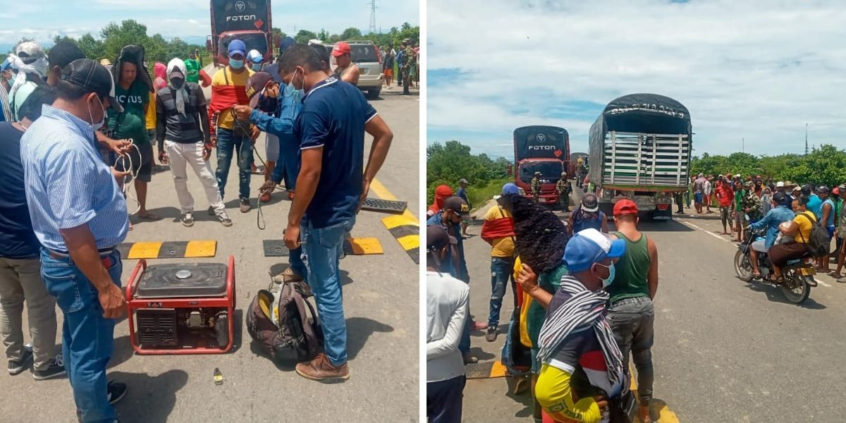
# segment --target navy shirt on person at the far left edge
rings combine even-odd
[[[8,259],[37,257],[41,247],[26,206],[24,167],[20,164],[22,135],[10,122],[0,124],[0,257]]]

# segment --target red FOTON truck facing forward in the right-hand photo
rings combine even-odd
[[[532,198],[531,179],[541,173],[538,201],[558,206],[555,184],[561,173],[568,171],[570,138],[567,129],[533,125],[514,129],[514,184],[526,197]]]

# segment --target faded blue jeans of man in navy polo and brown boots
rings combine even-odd
[[[306,279],[315,294],[317,315],[323,326],[324,349],[334,366],[347,362],[347,321],[343,317],[341,272],[338,269],[343,234],[351,221],[326,228],[314,228],[303,219],[299,238],[305,241]]]

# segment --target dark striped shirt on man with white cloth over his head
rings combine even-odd
[[[156,95],[156,113],[157,118],[164,123],[165,140],[193,144],[203,140],[199,113],[201,107],[206,107],[206,96],[203,96],[200,85],[193,82],[185,84],[185,91],[188,91],[185,114],[176,109],[176,93],[170,86],[162,88]]]

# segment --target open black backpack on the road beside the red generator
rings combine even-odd
[[[278,298],[261,289],[246,318],[250,336],[273,361],[283,365],[311,360],[323,347],[317,314],[294,284],[283,283]]]

